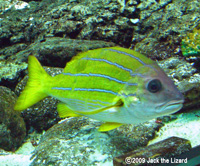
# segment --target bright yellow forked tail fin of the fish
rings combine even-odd
[[[34,56],[29,56],[28,58],[28,73],[27,84],[14,107],[17,111],[22,111],[48,96],[45,89],[51,76],[47,74]],[[45,82],[47,83],[46,85]]]

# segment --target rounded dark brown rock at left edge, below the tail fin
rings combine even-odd
[[[26,127],[20,112],[13,110],[16,95],[3,86],[0,86],[0,94],[0,148],[13,151],[21,146]]]

